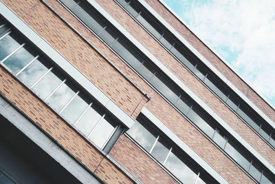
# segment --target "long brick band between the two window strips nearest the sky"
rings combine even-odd
[[[238,132],[243,139],[248,141],[260,154],[262,154],[267,161],[275,165],[274,154],[275,151],[261,139],[254,131],[248,127],[241,119],[239,119],[232,110],[230,110],[224,103],[208,90],[194,75],[192,75],[186,68],[184,68],[171,54],[169,54],[155,39],[153,39],[140,25],[138,25],[115,1],[97,0],[97,2],[107,10],[112,17],[117,20],[120,25],[126,28],[142,45],[144,45],[152,54],[162,61],[166,67],[176,74],[186,86],[195,92],[200,99],[202,99],[214,112],[227,122],[236,132]],[[151,101],[156,101],[152,99]],[[157,114],[161,114],[158,111]]]

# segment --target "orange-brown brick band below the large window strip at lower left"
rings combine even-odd
[[[83,163],[91,172],[96,172],[103,181],[132,183],[131,179],[124,176],[123,172],[114,165],[111,163],[106,165],[108,161],[105,161],[104,156],[96,148],[80,136],[74,128],[67,125],[30,90],[21,85],[17,79],[14,79],[2,66],[0,67],[0,93],[68,150],[80,163]],[[96,171],[101,167],[106,168],[107,171],[111,167],[112,171],[104,173]]]

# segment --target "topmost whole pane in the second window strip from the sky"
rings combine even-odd
[[[91,10],[88,7],[89,6],[81,1],[71,10],[79,19],[81,19],[81,21],[83,21],[89,28],[91,28],[91,30],[98,34],[105,27],[105,23],[96,15],[98,12]]]

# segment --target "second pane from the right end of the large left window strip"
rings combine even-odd
[[[96,106],[92,105],[81,117],[78,123],[76,123],[76,127],[78,130],[80,130],[80,132],[87,136],[102,116],[103,112],[99,110]]]

